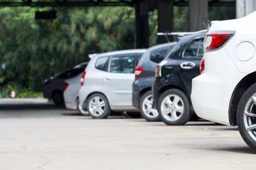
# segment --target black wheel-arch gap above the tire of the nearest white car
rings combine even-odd
[[[237,107],[243,93],[254,83],[256,83],[256,72],[246,75],[239,83],[236,85],[235,90],[230,99],[229,103],[229,123],[230,125],[237,125],[236,115]]]

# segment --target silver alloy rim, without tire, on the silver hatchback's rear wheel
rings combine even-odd
[[[94,116],[100,116],[105,111],[106,103],[103,98],[99,96],[93,97],[88,105],[88,109],[90,110],[91,114]]]

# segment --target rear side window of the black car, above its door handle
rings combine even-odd
[[[183,58],[202,58],[204,54],[204,39],[193,40],[183,53]]]

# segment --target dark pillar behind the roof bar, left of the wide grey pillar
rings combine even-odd
[[[173,32],[174,31],[174,0],[158,0],[158,32]],[[170,37],[170,41],[173,41]],[[158,43],[166,43],[164,36],[158,36]]]

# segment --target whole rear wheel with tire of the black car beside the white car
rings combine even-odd
[[[186,124],[191,117],[187,96],[178,89],[165,91],[157,104],[159,117],[167,125]]]

